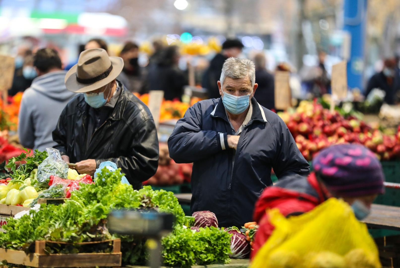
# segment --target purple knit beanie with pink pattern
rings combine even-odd
[[[382,166],[375,154],[363,145],[332,145],[318,153],[312,166],[334,194],[356,197],[385,191]]]

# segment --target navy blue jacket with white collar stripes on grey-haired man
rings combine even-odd
[[[222,99],[199,101],[176,123],[168,139],[170,157],[193,162],[193,212],[214,212],[220,227],[242,226],[252,220],[254,204],[278,178],[308,175],[310,166],[276,113],[251,100],[253,113],[243,128],[236,151],[228,147],[232,133]],[[233,157],[235,157],[234,166]]]

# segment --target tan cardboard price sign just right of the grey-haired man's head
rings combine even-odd
[[[292,106],[292,91],[289,85],[290,73],[276,71],[275,73],[275,108],[285,110]]]

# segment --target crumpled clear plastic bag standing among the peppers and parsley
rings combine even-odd
[[[48,157],[38,166],[37,179],[39,183],[48,181],[51,175],[61,178],[68,177],[68,165],[62,160],[60,151],[54,148],[46,148]]]

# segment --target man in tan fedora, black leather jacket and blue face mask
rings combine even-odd
[[[122,169],[134,189],[158,166],[158,138],[149,109],[116,77],[124,61],[102,48],[83,51],[65,76],[78,94],[64,108],[53,131],[55,146],[79,173],[92,174],[103,161]]]

